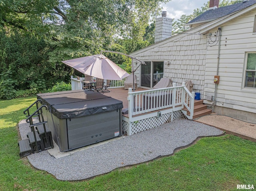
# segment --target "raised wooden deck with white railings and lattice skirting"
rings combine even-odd
[[[82,79],[71,77],[72,90],[82,89]],[[191,118],[194,114],[194,96],[185,86],[173,83],[172,87],[160,89],[137,88],[134,92],[124,89],[124,81],[112,81],[104,95],[122,101],[126,114],[122,115],[123,132],[128,136],[172,122],[184,115]],[[100,92],[102,93],[102,92]],[[187,108],[187,114],[183,108]]]

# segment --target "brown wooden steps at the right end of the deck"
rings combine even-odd
[[[188,115],[190,115],[190,112],[186,107],[183,108],[183,110],[186,111]],[[195,100],[193,119],[204,116],[204,115],[208,115],[211,113],[212,113],[212,110],[207,109],[207,105],[203,103],[203,100]]]

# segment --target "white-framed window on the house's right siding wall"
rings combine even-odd
[[[248,53],[244,87],[256,88],[256,53]]]

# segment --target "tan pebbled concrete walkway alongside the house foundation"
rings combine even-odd
[[[215,113],[202,116],[194,121],[216,127],[227,134],[256,142],[256,124]]]

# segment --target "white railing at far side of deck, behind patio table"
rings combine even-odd
[[[80,77],[80,79],[78,80],[77,78],[73,78],[73,76],[70,77],[71,79],[71,88],[72,90],[81,90],[83,89],[83,83],[82,81],[84,81],[83,77]],[[106,80],[104,80],[104,84],[106,84]],[[111,80],[110,83],[110,87],[108,87],[108,89],[112,89],[112,88],[121,88],[124,87],[124,79],[122,80]]]

